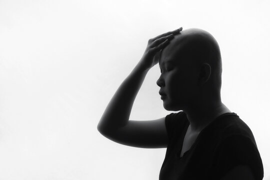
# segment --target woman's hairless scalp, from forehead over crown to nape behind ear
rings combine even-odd
[[[206,64],[210,70],[208,84],[220,91],[222,72],[220,50],[209,32],[198,28],[182,30],[161,51],[160,60],[173,60],[178,65],[185,68],[194,67],[197,71],[203,70]]]

